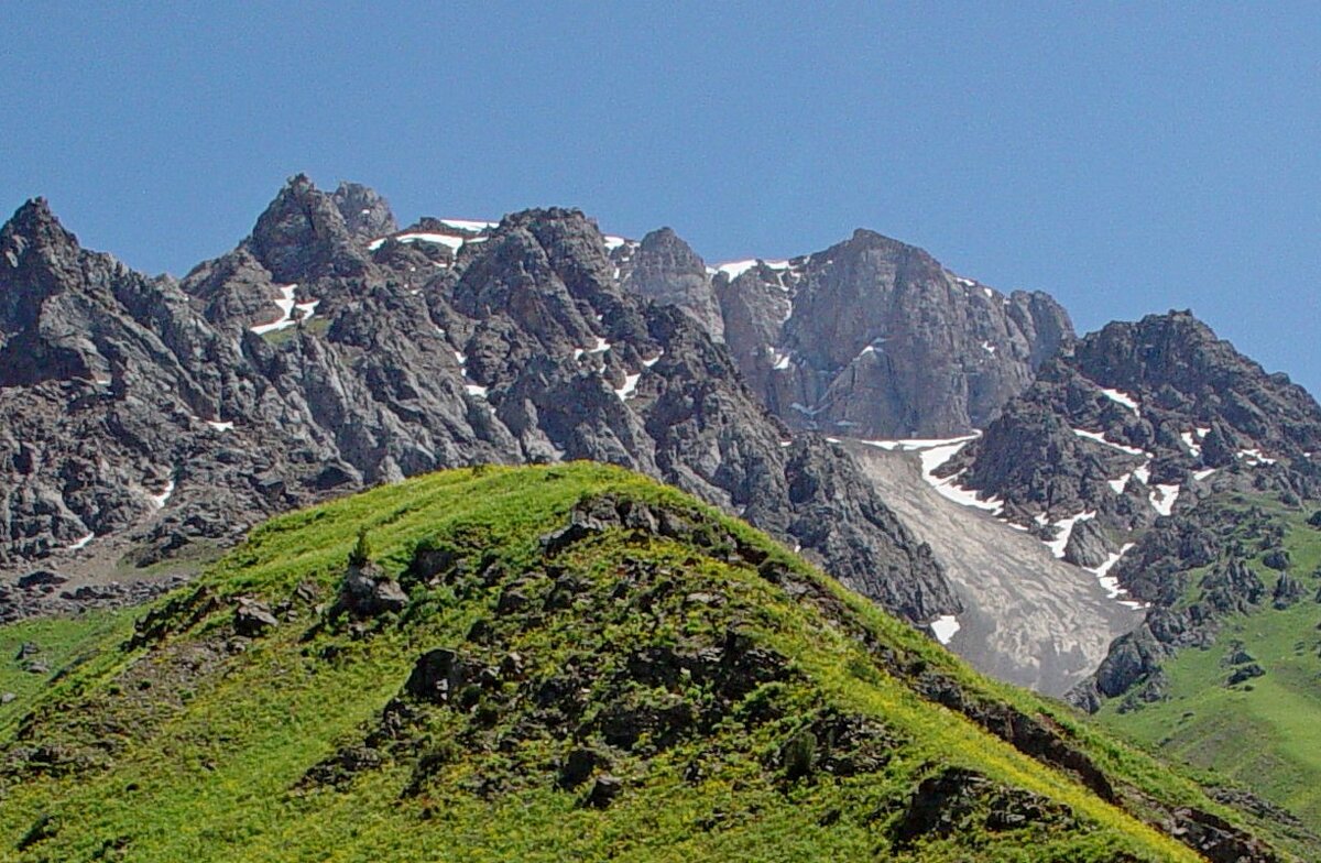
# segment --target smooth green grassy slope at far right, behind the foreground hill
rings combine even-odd
[[[1227,621],[1213,646],[1166,661],[1169,700],[1120,714],[1116,699],[1098,716],[1168,757],[1214,769],[1321,825],[1321,605],[1313,599],[1321,580],[1312,575],[1321,567],[1321,530],[1305,523],[1306,513],[1268,498],[1252,502],[1288,521],[1289,574],[1306,589],[1304,599],[1283,611],[1267,599],[1262,611]],[[1251,566],[1273,589],[1279,574],[1260,562]],[[1234,642],[1266,675],[1231,689],[1225,659]]]

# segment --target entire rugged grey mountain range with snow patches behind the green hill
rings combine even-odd
[[[1240,622],[1269,620],[1308,657],[1254,658],[1301,681],[1269,723],[1312,698],[1313,453],[1316,400],[1190,312],[1078,336],[1049,295],[867,230],[707,266],[571,209],[400,227],[301,174],[181,279],[82,248],[41,198],[0,229],[0,620],[140,603],[407,477],[589,460],[1120,731],[1177,722],[1135,718],[1205,689],[1189,650],[1251,653]],[[1296,790],[1321,772],[1287,760],[1264,790],[1321,823]],[[1201,767],[1254,785],[1229,748]]]

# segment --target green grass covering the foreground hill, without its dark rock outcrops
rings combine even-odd
[[[505,568],[518,575],[538,563],[539,535],[561,525],[580,497],[604,492],[700,509],[676,492],[598,465],[445,472],[273,519],[205,582],[222,595],[246,592],[273,603],[312,579],[329,596],[363,525],[390,572],[407,566],[419,541],[457,537],[497,550]],[[700,511],[750,543],[773,544],[746,526]],[[851,620],[882,644],[921,656],[971,691],[1055,716],[1125,785],[1215,809],[1155,761],[1058,707],[976,677],[778,547],[774,554],[804,578],[820,579]],[[638,560],[678,580],[679,599],[666,600],[663,613],[650,620],[629,603],[610,601],[620,574]],[[563,566],[592,585],[594,604],[538,626],[509,626],[493,617],[493,592],[441,587],[425,597],[415,592],[406,619],[386,621],[370,637],[317,629],[308,611],[243,652],[217,653],[230,632],[229,612],[221,611],[156,648],[98,653],[48,691],[24,693],[17,706],[32,710],[32,718],[21,727],[0,727],[0,765],[15,764],[15,740],[86,756],[75,774],[11,772],[0,778],[8,784],[0,786],[0,859],[1108,860],[1122,851],[1145,860],[1196,859],[1070,777],[919,699],[836,622],[752,567],[697,556],[671,541],[639,546],[616,534],[575,547]],[[527,589],[543,591],[542,582]],[[723,600],[675,605],[696,589]],[[627,790],[604,811],[583,807],[581,792],[559,790],[551,781],[564,740],[544,731],[510,736],[511,720],[502,715],[487,732],[470,715],[448,708],[428,714],[417,743],[448,753],[437,756],[439,767],[419,792],[403,793],[419,768],[416,759],[399,756],[342,789],[300,786],[310,767],[379,723],[420,653],[472,646],[468,633],[478,619],[503,626],[499,637],[528,657],[531,674],[553,673],[575,657],[609,661],[647,646],[704,644],[737,625],[787,658],[793,679],[761,693],[787,710],[761,724],[731,715],[709,735],[668,748],[614,752],[610,769]],[[115,625],[107,621],[95,633],[102,637]],[[210,652],[202,649],[207,645]],[[802,715],[824,708],[880,722],[898,741],[888,763],[852,777],[787,782],[774,767],[775,753]],[[481,735],[505,735],[499,739],[511,743],[465,749],[462,741],[486,739]],[[686,777],[694,763],[703,765],[699,778]],[[968,767],[1063,804],[1077,821],[892,847],[888,825],[917,782],[942,765]],[[482,781],[495,781],[497,793],[477,793]],[[28,847],[20,851],[25,837]]]

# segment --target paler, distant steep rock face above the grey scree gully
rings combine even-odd
[[[678,242],[658,234],[664,248]],[[713,289],[723,330],[708,332],[723,334],[750,386],[797,428],[892,439],[964,433],[997,416],[1073,337],[1049,296],[1004,296],[872,231],[787,262],[723,268],[708,291],[699,272],[700,260],[684,255],[682,267],[649,266],[645,280],[625,284],[645,284],[647,296],[699,321],[715,317],[694,311]]]

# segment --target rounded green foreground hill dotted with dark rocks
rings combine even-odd
[[[3,646],[25,640],[61,667],[0,712],[0,859],[1292,859],[766,537],[601,465],[292,513],[136,621]]]

